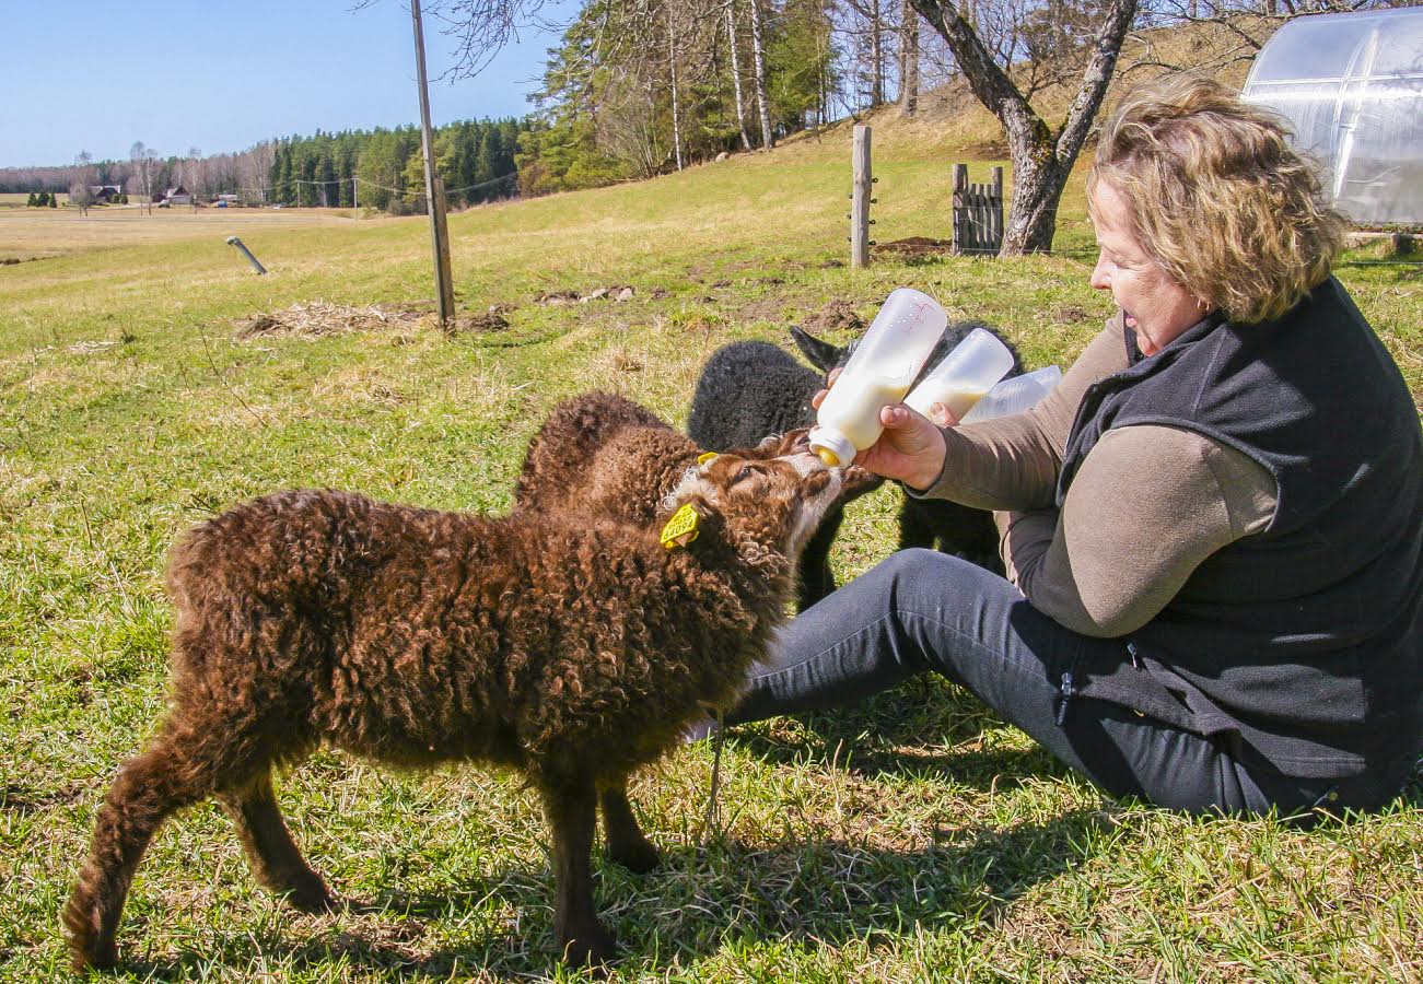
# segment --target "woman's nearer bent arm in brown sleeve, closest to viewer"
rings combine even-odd
[[[1264,529],[1275,479],[1245,454],[1173,427],[1107,431],[1062,512],[995,513],[1009,579],[1039,611],[1084,636],[1140,629],[1191,572]]]

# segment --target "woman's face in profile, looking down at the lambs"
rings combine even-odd
[[[1127,327],[1137,333],[1141,354],[1155,355],[1200,321],[1204,309],[1141,247],[1127,199],[1106,181],[1093,186],[1091,216],[1101,250],[1091,286],[1111,292],[1111,300],[1126,311]]]

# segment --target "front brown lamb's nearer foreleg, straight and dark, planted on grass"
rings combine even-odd
[[[598,792],[592,779],[565,781],[544,788],[544,811],[554,829],[554,934],[571,964],[602,963],[616,943],[593,910],[589,860],[598,820]]]

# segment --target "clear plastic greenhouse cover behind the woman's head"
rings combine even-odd
[[[1350,219],[1423,223],[1423,7],[1292,20],[1241,97],[1289,119]]]

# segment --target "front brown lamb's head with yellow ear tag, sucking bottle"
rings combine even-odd
[[[842,481],[808,448],[777,456],[704,455],[663,499],[663,543],[697,553],[720,547],[751,567],[788,572]]]

